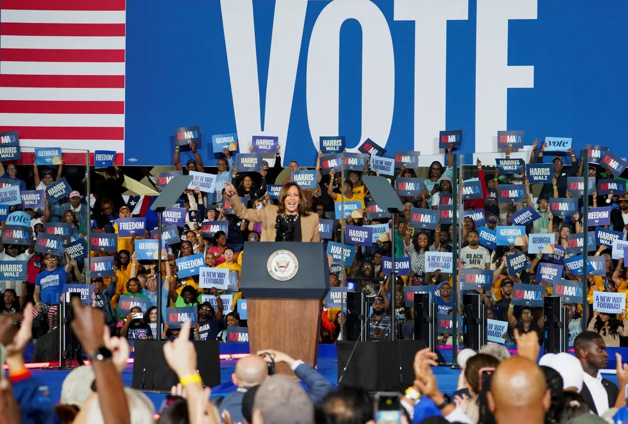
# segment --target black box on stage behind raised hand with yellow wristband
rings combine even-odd
[[[179,379],[166,364],[163,345],[166,340],[135,340],[133,381],[131,387],[143,391],[167,391]],[[195,341],[198,374],[205,386],[220,384],[220,343],[215,340]]]

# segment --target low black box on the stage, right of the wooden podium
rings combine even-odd
[[[413,384],[414,356],[425,344],[422,340],[382,340],[341,341],[336,346],[338,386],[367,391],[401,391]]]

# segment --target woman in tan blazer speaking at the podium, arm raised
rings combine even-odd
[[[320,242],[318,214],[308,210],[297,183],[285,183],[279,192],[278,205],[268,205],[265,209],[246,209],[236,187],[230,183],[225,184],[225,192],[237,217],[262,224],[260,241]]]

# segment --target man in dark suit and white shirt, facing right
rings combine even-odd
[[[576,337],[573,349],[584,371],[584,384],[580,394],[593,412],[602,415],[615,406],[619,393],[615,383],[602,378],[600,374],[600,369],[604,369],[609,362],[609,353],[606,351],[604,339],[595,332],[584,331]]]

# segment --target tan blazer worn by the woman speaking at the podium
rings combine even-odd
[[[275,241],[277,231],[275,230],[275,222],[277,220],[276,205],[268,205],[264,209],[246,209],[240,198],[237,196],[229,198],[231,205],[237,217],[252,222],[261,222],[262,236],[259,241]],[[320,233],[318,232],[318,214],[310,212],[310,215],[301,216],[301,241],[320,242]]]

